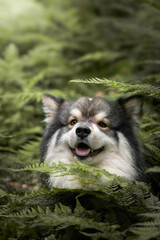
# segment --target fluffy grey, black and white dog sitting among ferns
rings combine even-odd
[[[81,97],[66,101],[43,96],[46,129],[41,162],[49,165],[81,161],[130,181],[145,178],[143,148],[138,131],[142,96],[108,101]],[[73,176],[49,177],[50,187],[84,188]],[[85,186],[86,188],[86,186]]]

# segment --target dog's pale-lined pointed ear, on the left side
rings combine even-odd
[[[43,111],[45,113],[45,120],[47,124],[52,122],[58,110],[65,105],[64,98],[57,98],[50,94],[43,95]]]

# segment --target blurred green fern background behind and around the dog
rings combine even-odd
[[[67,99],[87,95],[113,100],[128,94],[127,88],[114,84],[68,84],[71,79],[94,77],[151,86],[152,97],[149,90],[144,94],[141,138],[147,162],[156,166],[150,172],[159,172],[160,1],[0,0],[1,190],[23,196],[40,188],[35,174],[14,173],[8,168],[39,162],[43,93]],[[159,187],[157,175],[152,177]],[[2,196],[2,206],[11,206],[13,199]],[[0,239],[44,239],[37,235],[36,227],[25,236],[24,221],[17,221],[2,219]],[[153,237],[160,237],[160,232],[157,225],[153,227],[155,236],[143,234],[142,228],[132,234],[138,234],[137,239],[156,239]],[[47,231],[45,239],[73,239],[70,233],[67,238],[55,238],[49,228]],[[135,239],[131,233],[127,236]]]

